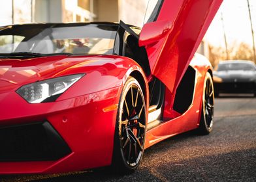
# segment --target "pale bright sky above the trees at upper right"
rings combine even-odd
[[[249,3],[251,7],[253,30],[256,32],[256,0],[249,0]],[[223,14],[223,23],[228,45],[231,46],[234,42],[236,42],[236,44],[245,42],[252,46],[253,43],[247,0],[224,0],[204,36],[204,40],[214,46],[225,46],[221,12]]]

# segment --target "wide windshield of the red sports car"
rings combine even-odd
[[[118,27],[103,24],[39,24],[0,27],[0,54],[112,54]]]

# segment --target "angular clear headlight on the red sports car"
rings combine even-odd
[[[47,79],[24,85],[16,92],[29,103],[55,101],[65,90],[76,83],[84,74]]]

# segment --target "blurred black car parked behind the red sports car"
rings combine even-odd
[[[214,72],[214,92],[252,93],[256,97],[256,65],[249,60],[219,62]]]

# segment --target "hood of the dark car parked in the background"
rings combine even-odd
[[[221,79],[255,79],[256,72],[243,71],[243,70],[231,70],[215,72],[214,75]]]

